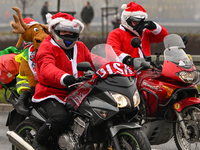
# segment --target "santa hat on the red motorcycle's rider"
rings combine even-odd
[[[137,17],[137,18],[141,18],[141,19],[148,18],[148,14],[147,14],[146,10],[142,6],[140,6],[139,4],[137,4],[135,2],[130,2],[128,5],[123,4],[121,6],[121,9],[124,10],[122,12],[122,15],[124,15],[124,16],[133,16],[133,17]]]

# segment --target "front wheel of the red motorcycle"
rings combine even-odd
[[[180,123],[173,124],[174,141],[178,150],[199,149],[200,148],[200,107],[189,106],[182,110],[183,122],[189,131],[189,139],[185,138]],[[193,117],[192,117],[193,116]],[[194,120],[193,118],[196,118]]]

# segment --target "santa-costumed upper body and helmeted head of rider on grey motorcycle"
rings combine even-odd
[[[67,95],[64,79],[75,81],[75,78],[82,76],[83,72],[78,72],[76,66],[80,62],[91,62],[91,56],[85,44],[77,41],[84,28],[79,20],[63,13],[49,15],[47,21],[52,35],[43,40],[37,52],[36,70],[39,84],[32,100],[40,102],[47,98],[55,98],[64,103]],[[70,26],[73,28],[70,29]],[[75,31],[74,37],[61,36],[59,30]]]

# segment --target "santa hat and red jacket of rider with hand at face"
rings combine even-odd
[[[168,35],[167,30],[157,24],[156,28],[153,30],[144,29],[141,36],[133,30],[131,26],[129,26],[126,22],[127,18],[130,16],[140,17],[147,19],[148,15],[145,9],[137,3],[131,2],[128,5],[123,4],[122,9],[122,25],[119,28],[111,31],[108,35],[107,44],[111,45],[119,56],[120,60],[130,55],[131,57],[143,57],[142,51],[139,48],[133,48],[131,46],[131,40],[138,36],[142,43],[141,47],[146,56],[151,55],[150,44],[151,43],[159,43],[163,41],[163,38]]]

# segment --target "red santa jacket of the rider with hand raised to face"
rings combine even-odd
[[[156,24],[157,28],[153,31],[145,29],[142,36],[139,36],[141,39],[141,47],[146,56],[151,55],[150,44],[159,43],[163,41],[163,38],[168,35],[168,32],[165,28]],[[111,45],[115,53],[119,56],[122,61],[124,57],[128,54],[133,57],[142,58],[143,54],[139,48],[134,48],[131,46],[132,38],[136,37],[133,33],[128,30],[125,30],[123,26],[111,31],[108,35],[107,44]]]

